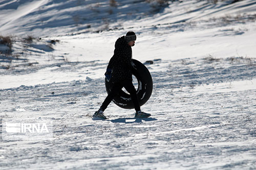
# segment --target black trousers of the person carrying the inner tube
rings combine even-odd
[[[114,97],[118,95],[119,91],[122,90],[123,87],[125,88],[125,90],[127,92],[129,92],[131,94],[131,98],[132,98],[132,102],[134,104],[135,110],[140,111],[140,105],[139,105],[139,101],[138,101],[137,91],[133,85],[132,80],[129,80],[129,79],[124,80],[122,82],[114,83],[114,85],[111,89],[111,92],[106,97],[106,99],[104,100],[104,102],[102,103],[100,108],[102,110],[105,110],[109,106],[111,101],[114,99]]]

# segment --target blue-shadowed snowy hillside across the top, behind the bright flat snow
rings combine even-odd
[[[3,1],[0,4],[0,33],[52,36],[63,33],[127,29],[209,19],[212,17],[255,14],[253,0],[230,4],[224,1],[169,3],[164,10],[145,1]],[[159,13],[155,14],[156,11]]]

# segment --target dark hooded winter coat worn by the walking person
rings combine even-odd
[[[132,47],[124,40],[124,36],[118,38],[115,43],[115,51],[110,59],[108,68],[112,69],[111,81],[121,82],[132,80]]]

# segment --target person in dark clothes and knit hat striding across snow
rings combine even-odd
[[[126,33],[125,36],[119,37],[115,43],[114,55],[110,59],[106,68],[105,77],[107,81],[113,83],[111,92],[108,94],[99,110],[93,114],[93,117],[106,119],[104,110],[108,107],[119,91],[124,87],[131,94],[132,102],[135,106],[135,117],[146,118],[151,114],[142,112],[137,97],[136,89],[132,79],[132,46],[135,45],[136,34],[132,31]]]

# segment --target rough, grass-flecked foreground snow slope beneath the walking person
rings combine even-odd
[[[142,109],[153,116],[146,119],[111,104],[106,110],[110,120],[92,120],[106,96],[102,78],[1,90],[3,117],[54,122],[52,140],[3,141],[1,166],[254,169],[255,61],[208,62],[186,59],[151,66],[154,92]]]

